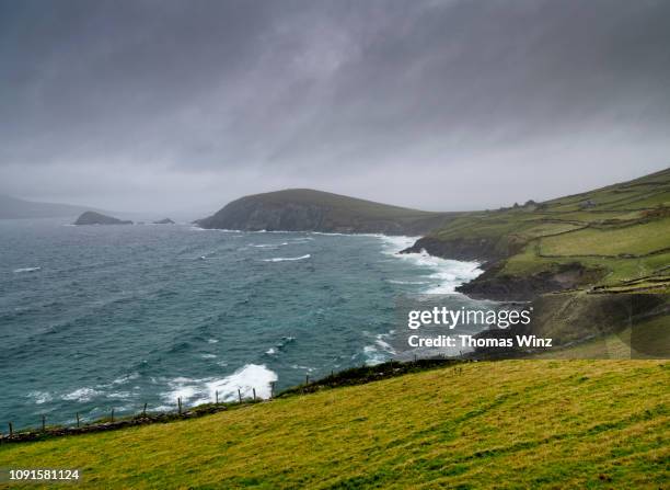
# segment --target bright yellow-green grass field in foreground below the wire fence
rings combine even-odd
[[[669,383],[659,361],[474,363],[5,444],[0,467],[78,467],[82,488],[656,489],[670,477]]]

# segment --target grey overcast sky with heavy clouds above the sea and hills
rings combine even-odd
[[[670,166],[670,1],[0,0],[0,193],[426,209]]]

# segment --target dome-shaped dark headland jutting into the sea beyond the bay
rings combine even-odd
[[[203,228],[419,235],[459,213],[430,213],[311,189],[255,194],[229,203]]]

